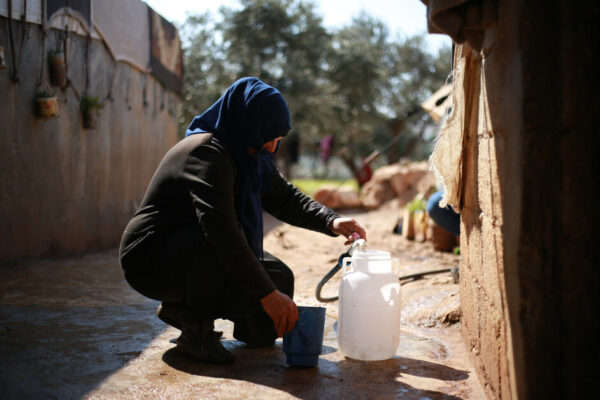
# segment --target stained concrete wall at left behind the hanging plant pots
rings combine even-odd
[[[13,27],[18,39],[20,22]],[[87,93],[110,99],[97,128],[86,130],[74,92],[52,88],[60,98],[60,118],[39,119],[36,90],[50,87],[45,53],[64,32],[48,30],[44,44],[41,26],[27,29],[15,83],[7,23],[0,18],[9,67],[0,71],[0,261],[114,246],[158,162],[177,140],[180,99],[149,74],[114,61],[100,41],[89,43],[86,67],[86,39],[70,33],[73,86],[83,95],[87,75]]]

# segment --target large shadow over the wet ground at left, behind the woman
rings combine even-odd
[[[2,265],[0,398],[80,399],[165,325],[123,281],[115,251]]]

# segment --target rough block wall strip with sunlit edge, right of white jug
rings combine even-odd
[[[463,49],[468,103],[461,214],[461,313],[465,341],[490,399],[516,396],[507,282],[520,227],[519,10],[503,3],[482,54]],[[512,293],[514,294],[514,293]],[[517,293],[518,296],[518,293]]]

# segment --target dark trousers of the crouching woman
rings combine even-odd
[[[267,252],[261,263],[277,289],[293,298],[292,271]],[[121,242],[121,265],[136,291],[162,302],[181,303],[185,318],[232,320],[234,336],[245,342],[268,342],[277,337],[260,302],[245,295],[197,225],[169,234],[126,233]]]

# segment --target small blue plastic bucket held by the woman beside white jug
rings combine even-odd
[[[286,362],[293,367],[314,367],[323,350],[324,307],[298,307],[298,322],[283,335]]]

